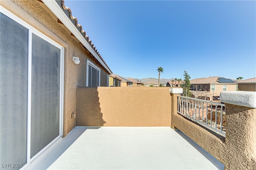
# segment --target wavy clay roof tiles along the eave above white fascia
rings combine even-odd
[[[86,32],[83,30],[82,25],[78,24],[77,18],[72,16],[72,12],[70,10],[70,8],[66,7],[64,4],[64,0],[61,0],[61,4],[62,4],[62,10],[64,11],[64,13],[70,18],[70,20],[72,21],[72,23],[76,26],[76,28],[78,29],[78,31],[80,31],[80,33],[83,35],[84,39],[86,39],[86,41],[89,43],[89,45],[92,47],[92,49],[95,51],[95,53],[98,55],[98,57],[100,57],[100,59],[102,60],[102,62],[104,64],[106,64],[106,66],[108,67],[108,69],[110,70],[108,64],[104,61],[104,59],[101,57],[100,53],[98,52],[98,50],[96,49],[96,47],[94,46],[94,44],[92,43],[92,41],[89,39],[89,36],[86,35]]]

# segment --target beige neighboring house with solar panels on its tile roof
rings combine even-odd
[[[220,92],[237,91],[237,80],[219,76],[190,80],[191,92],[196,98],[219,100]],[[201,97],[199,97],[201,96]]]

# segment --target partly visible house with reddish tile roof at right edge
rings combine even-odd
[[[236,81],[239,91],[251,91],[256,92],[256,77],[246,80]]]

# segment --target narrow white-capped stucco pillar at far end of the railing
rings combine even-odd
[[[174,126],[174,119],[175,114],[177,114],[178,110],[178,95],[182,94],[183,89],[182,88],[170,88],[170,94],[171,94],[171,128],[175,129]]]

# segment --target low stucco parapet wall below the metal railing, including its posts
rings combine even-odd
[[[172,96],[171,127],[177,128],[225,165],[225,169],[256,169],[256,109],[225,104],[226,137],[222,137],[177,113]]]

